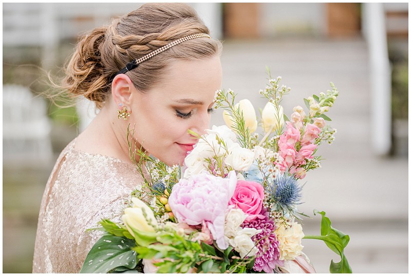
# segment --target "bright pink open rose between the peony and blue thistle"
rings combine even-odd
[[[239,180],[230,200],[230,205],[241,209],[247,215],[246,221],[250,222],[255,218],[260,218],[263,200],[263,185],[252,181]],[[264,215],[262,218],[264,218]]]

